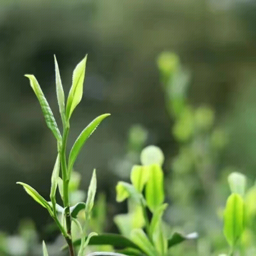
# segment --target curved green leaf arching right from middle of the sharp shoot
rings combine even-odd
[[[84,129],[83,132],[79,135],[79,137],[76,139],[73,147],[70,150],[69,158],[68,158],[68,170],[73,168],[73,165],[76,161],[76,157],[78,156],[81,148],[83,147],[85,141],[89,138],[89,136],[94,132],[96,127],[100,124],[100,122],[105,119],[110,114],[104,114],[101,116],[96,117],[90,124],[87,125],[87,127]]]

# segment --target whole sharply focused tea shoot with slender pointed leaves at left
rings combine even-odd
[[[55,61],[55,76],[56,76],[56,92],[57,99],[60,108],[60,116],[63,125],[63,134],[60,134],[59,128],[56,124],[54,116],[52,114],[52,110],[44,97],[44,94],[33,75],[25,75],[28,77],[30,81],[30,85],[33,91],[36,94],[37,99],[41,105],[45,121],[49,129],[52,131],[55,139],[57,140],[57,157],[56,162],[52,172],[52,185],[50,192],[50,202],[45,200],[34,188],[23,182],[17,182],[22,185],[26,192],[39,204],[41,204],[46,210],[50,213],[53,220],[55,220],[57,226],[59,227],[62,235],[65,237],[66,242],[69,248],[70,256],[75,255],[74,247],[73,247],[73,237],[71,234],[71,223],[74,222],[81,232],[81,244],[78,252],[78,256],[84,255],[84,249],[89,243],[89,240],[92,236],[97,235],[95,232],[91,232],[87,236],[87,222],[90,221],[90,216],[92,212],[92,207],[94,203],[94,196],[96,192],[96,173],[95,170],[92,174],[92,179],[90,182],[90,186],[87,193],[86,203],[77,202],[75,205],[71,204],[72,195],[70,195],[70,190],[72,190],[72,170],[75,160],[83,147],[85,141],[88,137],[94,132],[96,127],[100,124],[100,122],[105,119],[109,114],[104,114],[95,118],[79,135],[77,140],[75,141],[73,147],[70,150],[68,161],[66,158],[66,144],[69,133],[69,120],[70,117],[78,105],[78,103],[82,99],[83,95],[83,84],[84,84],[84,76],[85,76],[85,65],[86,65],[87,56],[76,66],[73,72],[72,85],[68,94],[68,99],[65,104],[65,96],[62,88],[62,83],[60,79],[60,72],[58,68],[57,60],[54,56]],[[61,168],[60,168],[61,167]],[[61,169],[61,177],[60,177],[60,169]],[[74,175],[74,174],[73,174]],[[59,188],[60,196],[63,201],[63,207],[56,203],[56,190]],[[76,195],[77,197],[77,195]],[[85,213],[85,223],[82,227],[81,223],[77,220],[78,213],[84,210]],[[58,212],[61,213],[61,217],[59,218]],[[43,243],[43,252],[44,256],[48,255],[46,246]]]

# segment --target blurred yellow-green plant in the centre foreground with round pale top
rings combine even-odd
[[[140,161],[142,165],[132,167],[132,184],[119,181],[116,186],[116,200],[123,202],[127,199],[128,213],[116,215],[114,221],[120,232],[140,249],[139,252],[136,248],[126,248],[122,252],[129,255],[168,255],[170,247],[197,235],[174,233],[168,239],[169,230],[162,220],[168,206],[164,203],[164,154],[156,146],[148,146],[142,150]]]

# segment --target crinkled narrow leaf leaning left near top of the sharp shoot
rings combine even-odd
[[[39,100],[39,103],[41,105],[47,126],[52,131],[54,137],[58,141],[61,141],[60,131],[59,131],[56,121],[53,117],[52,110],[51,110],[47,100],[44,97],[44,93],[42,92],[40,85],[38,84],[38,82],[36,80],[36,77],[33,75],[25,75],[25,76],[28,77],[28,79],[30,81],[30,85],[31,85],[33,91],[35,92],[37,99]]]

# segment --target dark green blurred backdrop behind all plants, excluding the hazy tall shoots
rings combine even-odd
[[[255,11],[249,0],[1,0],[0,230],[15,233],[25,217],[35,220],[38,230],[50,222],[15,182],[24,181],[48,198],[56,142],[23,75],[36,76],[60,124],[53,54],[67,95],[72,71],[88,53],[84,95],[71,118],[68,149],[94,117],[112,114],[74,166],[82,174],[82,189],[97,169],[110,220],[122,212],[114,188],[129,173],[124,173],[125,162],[119,172],[114,163],[126,152],[133,124],[148,130],[147,145],[162,148],[166,158],[177,154],[156,65],[164,50],[177,53],[191,70],[188,101],[212,106],[216,123],[228,130],[223,165],[255,179]],[[114,224],[109,229],[115,230]]]

